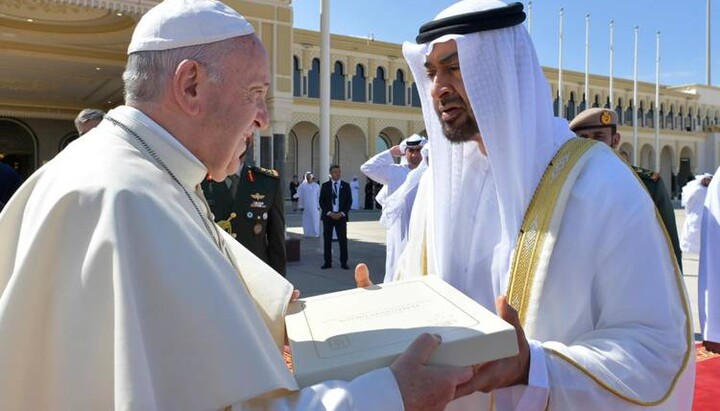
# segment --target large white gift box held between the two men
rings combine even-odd
[[[297,300],[285,318],[301,387],[389,366],[422,333],[430,364],[469,366],[518,353],[515,329],[436,276]]]

